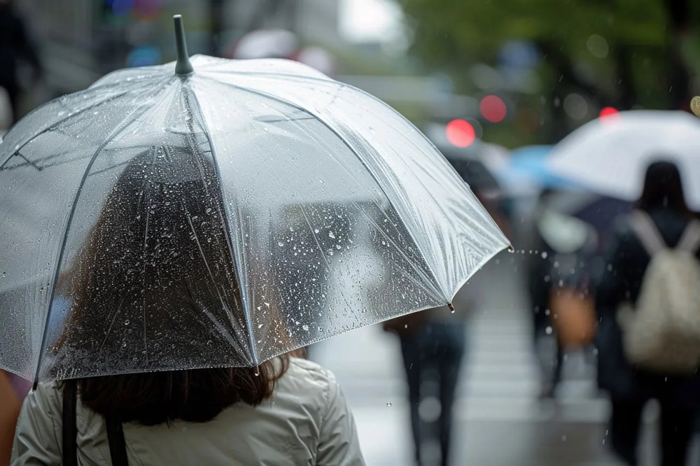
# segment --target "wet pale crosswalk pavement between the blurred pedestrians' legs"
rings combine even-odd
[[[452,464],[621,465],[605,445],[609,406],[596,390],[591,361],[582,353],[566,356],[556,401],[538,400],[531,319],[515,271],[521,269],[521,258],[504,253],[498,261],[470,283],[486,299],[468,325],[470,348],[454,405]],[[458,295],[456,305],[460,299]],[[367,465],[411,465],[398,339],[378,326],[369,327],[318,344],[311,358],[332,369],[342,384]],[[650,404],[645,412],[640,466],[658,464],[653,441],[657,411]],[[439,448],[435,444],[428,446],[428,454],[430,450]],[[694,453],[689,464],[700,464],[700,456]]]

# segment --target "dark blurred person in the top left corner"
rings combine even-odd
[[[10,98],[13,122],[20,119],[22,85],[18,76],[20,59],[26,60],[34,71],[35,80],[41,76],[38,53],[29,38],[24,20],[13,6],[13,0],[0,0],[0,87]]]

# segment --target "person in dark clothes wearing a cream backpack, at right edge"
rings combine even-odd
[[[608,444],[637,465],[640,421],[661,407],[661,464],[683,466],[700,407],[700,223],[678,167],[647,168],[636,210],[619,219],[596,286],[598,385],[608,391]]]

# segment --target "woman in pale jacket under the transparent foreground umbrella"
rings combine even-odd
[[[159,178],[146,188],[144,167],[153,167],[146,164],[153,155],[144,154],[125,168],[73,268],[59,279],[57,288],[68,290],[71,303],[62,325],[56,324],[60,334],[52,340],[54,359],[92,351],[94,363],[100,364],[101,355],[127,345],[125,334],[134,327],[104,332],[102,323],[141,313],[141,300],[153,304],[148,308],[151,329],[173,322],[190,329],[187,341],[168,348],[172,354],[197,339],[205,323],[214,320],[223,327],[221,321],[241,318],[239,292],[211,285],[213,276],[238,283],[230,256],[211,259],[217,227],[202,223],[209,241],[194,241],[195,230],[176,220],[183,209],[189,219],[207,218],[211,202],[223,205],[221,193],[202,180],[177,176],[174,181]],[[187,190],[182,201],[170,202],[173,183]],[[134,215],[142,199],[161,209]],[[147,232],[158,232],[155,253],[144,253]],[[141,260],[158,260],[159,278],[170,287],[141,283],[133,273],[139,267],[134,253]],[[125,302],[123,297],[134,290],[140,298]],[[111,303],[111,309],[104,303]],[[114,316],[104,315],[104,309]],[[100,334],[97,343],[95,332]],[[285,335],[283,330],[278,338]],[[235,361],[244,350],[231,337],[225,341]],[[200,351],[224,348],[202,344]],[[22,407],[12,464],[364,464],[353,416],[335,376],[296,353],[259,367],[146,373],[113,367],[113,374],[39,383]]]

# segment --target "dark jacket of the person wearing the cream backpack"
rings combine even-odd
[[[689,216],[663,207],[652,208],[647,213],[666,244],[675,246],[687,227]],[[617,309],[623,302],[636,303],[650,260],[627,216],[619,218],[605,254],[605,271],[596,285],[598,385],[608,390],[613,399],[658,398],[695,407],[700,405],[700,376],[651,374],[630,365],[624,355]]]

